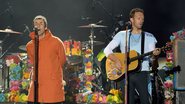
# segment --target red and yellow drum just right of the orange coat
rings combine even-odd
[[[67,61],[70,65],[77,65],[82,62],[81,42],[75,40],[64,41]]]

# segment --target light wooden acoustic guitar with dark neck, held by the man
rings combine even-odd
[[[161,48],[161,51],[171,50],[171,45],[167,45]],[[134,71],[138,69],[139,60],[143,57],[151,55],[153,51],[147,52],[145,54],[139,55],[135,50],[129,52],[129,65],[128,71]],[[106,60],[106,74],[110,80],[117,80],[125,73],[125,53],[113,53],[116,58],[121,62],[121,69],[116,68],[115,62],[111,61],[109,57]]]

